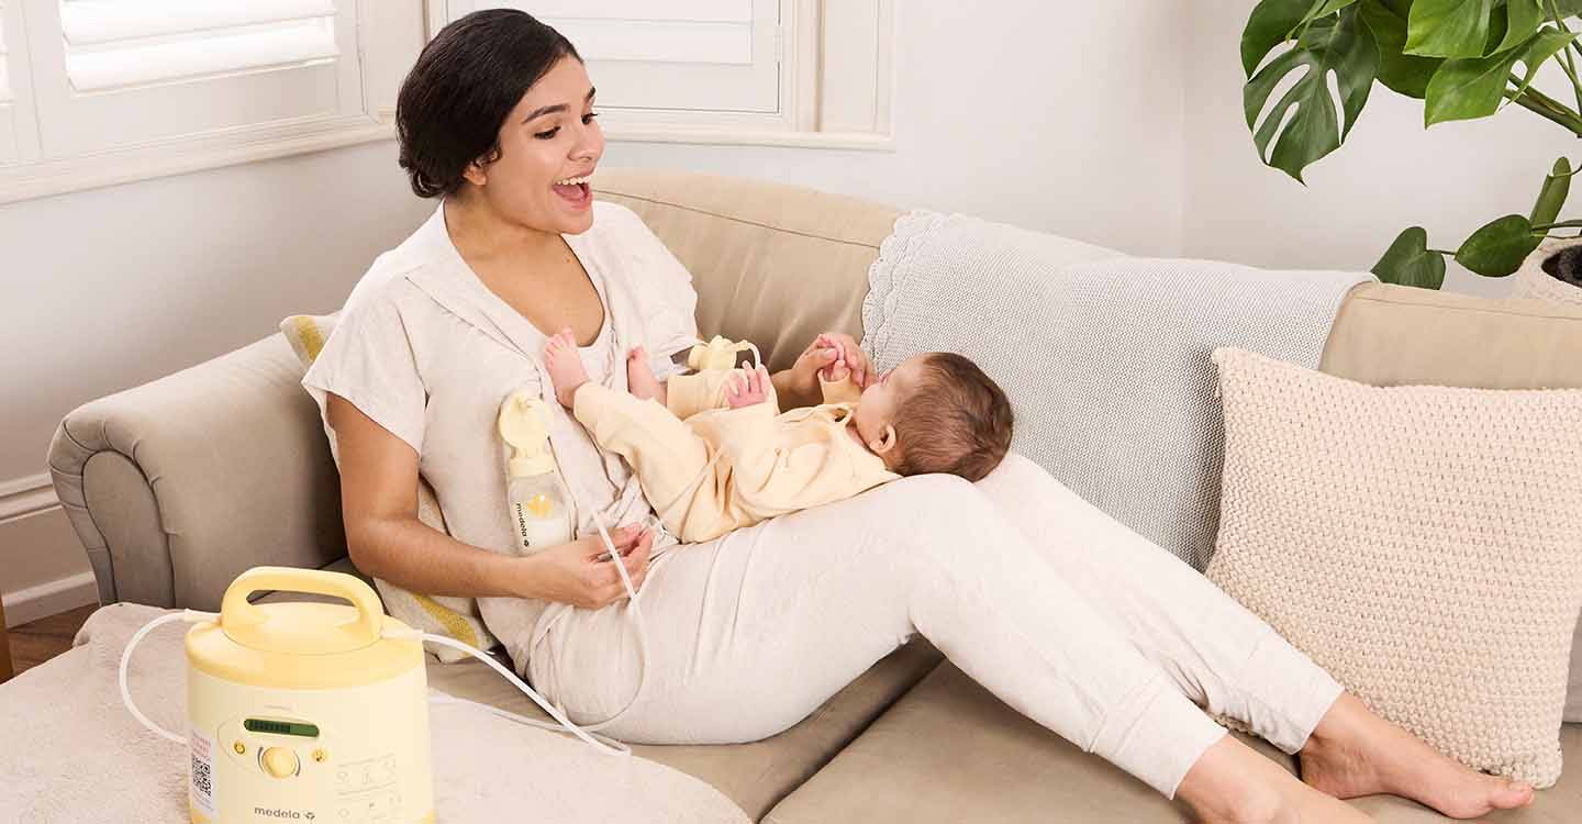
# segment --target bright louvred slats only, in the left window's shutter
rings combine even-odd
[[[76,92],[334,60],[334,0],[63,0]]]

